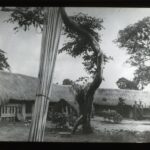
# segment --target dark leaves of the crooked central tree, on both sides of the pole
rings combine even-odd
[[[98,32],[104,29],[102,26],[103,19],[91,17],[83,13],[78,13],[70,18],[93,35],[99,43],[101,42],[101,36]],[[18,31],[20,27],[23,28],[24,31],[27,31],[31,26],[42,30],[44,10],[42,7],[17,7],[15,11],[11,13],[11,17],[7,20],[7,22],[17,23],[18,26],[14,28],[16,31]],[[85,70],[89,74],[94,75],[97,68],[97,55],[92,50],[87,38],[77,34],[66,26],[63,26],[62,34],[66,36],[67,41],[59,50],[59,53],[66,52],[72,57],[82,56]],[[106,55],[104,58],[105,62],[112,59]]]

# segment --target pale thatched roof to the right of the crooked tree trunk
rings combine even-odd
[[[127,105],[133,105],[135,101],[150,106],[150,92],[123,89],[98,89],[94,96],[94,103],[98,105],[117,105],[119,98],[123,98]]]

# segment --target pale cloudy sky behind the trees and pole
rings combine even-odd
[[[82,12],[104,20],[105,29],[99,33],[102,35],[100,46],[104,53],[113,57],[113,60],[105,65],[105,81],[100,87],[117,88],[116,81],[121,77],[132,80],[135,68],[125,63],[129,58],[126,50],[119,49],[113,40],[117,38],[119,30],[149,16],[150,8],[66,7],[66,11],[68,15]],[[6,52],[13,73],[37,77],[42,34],[34,28],[27,32],[20,29],[15,33],[13,28],[16,24],[4,22],[8,18],[9,13],[0,12],[0,49]],[[63,42],[64,37],[61,36],[59,48]],[[82,61],[80,57],[72,58],[66,53],[58,54],[53,82],[62,84],[66,78],[76,80],[81,76],[88,76]],[[150,86],[145,90],[150,91]]]

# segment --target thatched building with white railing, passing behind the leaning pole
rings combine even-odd
[[[0,119],[31,118],[37,86],[37,78],[0,71]],[[74,111],[78,114],[78,105],[71,86],[52,85],[50,109],[60,100],[68,104],[63,106],[67,112]]]

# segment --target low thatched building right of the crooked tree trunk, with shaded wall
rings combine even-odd
[[[135,101],[142,103],[144,116],[150,117],[150,92],[124,89],[98,89],[94,96],[95,113],[102,110],[118,110],[119,99],[124,100],[125,117],[133,118]]]

